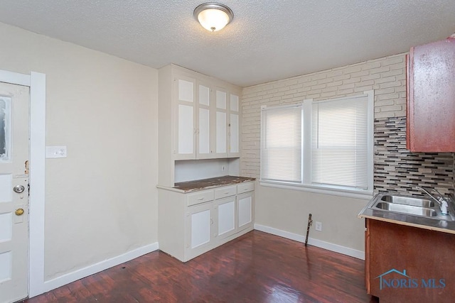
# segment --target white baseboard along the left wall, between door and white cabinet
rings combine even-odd
[[[112,268],[116,265],[125,263],[129,260],[133,260],[135,258],[140,257],[141,255],[145,255],[147,253],[151,253],[152,251],[158,250],[158,242],[151,243],[146,246],[142,246],[140,248],[136,248],[131,250],[127,253],[122,255],[117,255],[114,258],[110,258],[107,260],[103,260],[101,262],[95,263],[93,265],[89,265],[86,268],[81,268],[80,270],[75,270],[73,272],[68,272],[65,275],[60,277],[55,277],[52,280],[48,280],[44,282],[44,292],[48,292],[50,290],[55,290],[63,285],[67,285],[68,283],[77,281],[82,279],[82,277],[88,277],[89,275],[93,275],[97,272],[101,272],[103,270],[107,270],[108,268]],[[38,294],[36,294],[38,295]]]

